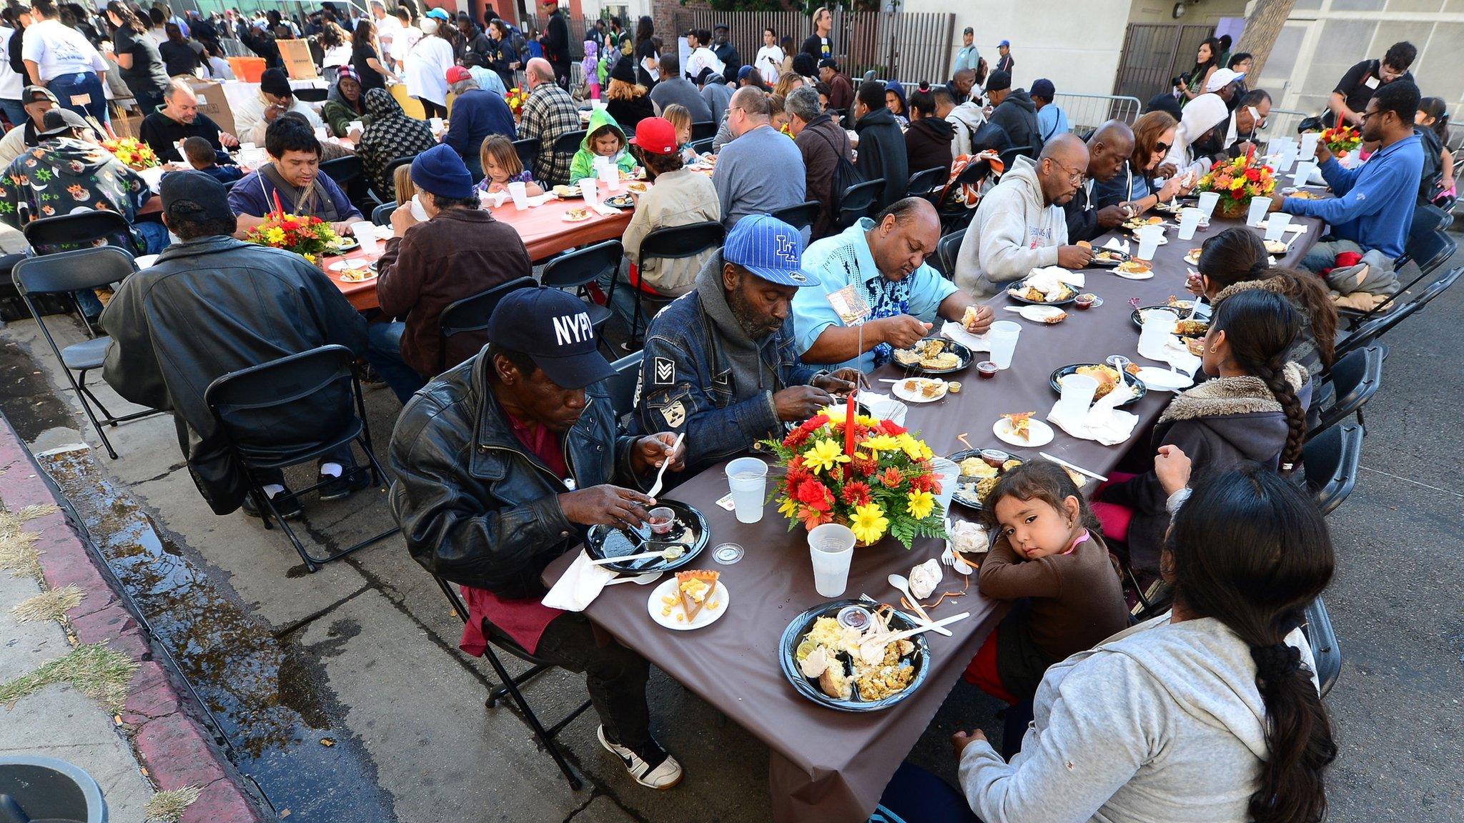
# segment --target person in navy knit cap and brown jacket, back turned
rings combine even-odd
[[[411,161],[411,185],[427,221],[417,223],[408,206],[391,212],[391,239],[376,264],[376,300],[382,315],[406,321],[372,324],[366,359],[403,404],[483,344],[474,338],[466,351],[464,341],[454,347],[442,337],[442,310],[533,271],[518,231],[480,208],[473,182],[452,148],[433,146]]]

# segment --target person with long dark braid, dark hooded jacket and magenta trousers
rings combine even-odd
[[[1306,370],[1287,360],[1300,328],[1300,313],[1280,294],[1255,288],[1227,297],[1215,309],[1200,356],[1211,379],[1170,401],[1154,426],[1155,450],[1180,448],[1200,474],[1252,460],[1294,470],[1312,395]],[[1170,495],[1157,473],[1113,474],[1097,496],[1094,513],[1104,536],[1127,543],[1136,571],[1158,573]]]

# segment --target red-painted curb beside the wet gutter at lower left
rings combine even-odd
[[[0,416],[0,498],[10,511],[34,504],[61,504],[10,422]],[[193,718],[183,691],[168,671],[154,660],[151,640],[127,611],[126,602],[97,568],[83,537],[61,511],[26,523],[41,537],[41,568],[51,589],[76,584],[86,593],[82,605],[67,612],[81,643],[107,641],[139,662],[127,687],[122,722],[148,775],[164,791],[201,786],[202,795],[179,819],[182,823],[259,823],[250,795],[220,753],[211,735]]]

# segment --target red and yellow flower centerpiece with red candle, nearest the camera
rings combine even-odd
[[[763,441],[788,469],[773,491],[788,529],[842,523],[861,545],[893,535],[906,549],[915,537],[944,537],[930,447],[851,407],[832,406],[788,436]]]

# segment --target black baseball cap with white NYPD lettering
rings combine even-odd
[[[584,300],[540,286],[515,288],[488,318],[488,338],[529,354],[559,388],[584,388],[615,375],[600,354]]]

